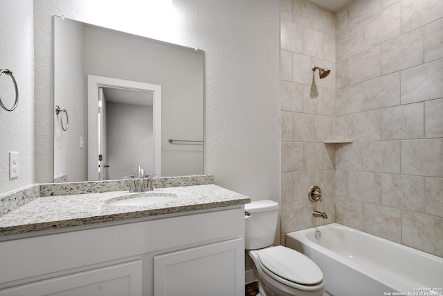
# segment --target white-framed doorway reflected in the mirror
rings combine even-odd
[[[161,176],[161,85],[88,76],[88,180]]]

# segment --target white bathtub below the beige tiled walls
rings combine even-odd
[[[286,245],[320,267],[325,295],[443,295],[443,258],[344,225],[291,232]]]

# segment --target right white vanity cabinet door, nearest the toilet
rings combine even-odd
[[[244,241],[154,256],[154,296],[244,295]]]

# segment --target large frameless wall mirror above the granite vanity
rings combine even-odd
[[[54,17],[55,182],[203,174],[203,114],[203,51]]]

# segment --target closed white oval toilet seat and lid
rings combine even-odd
[[[314,261],[282,245],[260,250],[258,263],[266,275],[293,288],[311,290],[323,281]]]

